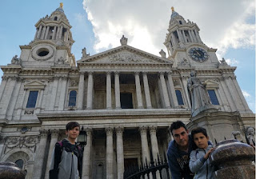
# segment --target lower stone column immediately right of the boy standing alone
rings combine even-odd
[[[82,178],[90,179],[90,156],[91,156],[91,147],[92,147],[92,129],[87,128],[87,144],[83,150],[82,156]]]

